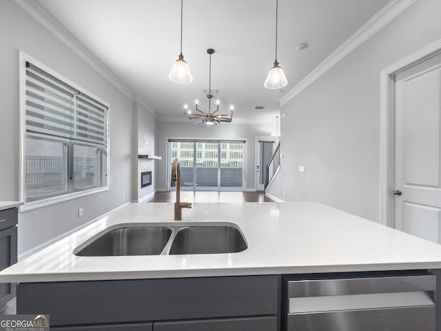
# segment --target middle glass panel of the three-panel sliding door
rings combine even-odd
[[[196,143],[196,187],[198,191],[218,190],[219,143]]]

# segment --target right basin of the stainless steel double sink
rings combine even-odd
[[[236,253],[247,249],[240,231],[231,226],[191,226],[176,233],[169,254]]]

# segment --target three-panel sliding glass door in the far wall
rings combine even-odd
[[[245,141],[170,140],[169,150],[170,167],[181,161],[181,190],[243,190]]]

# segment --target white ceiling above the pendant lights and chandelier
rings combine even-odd
[[[389,2],[279,0],[278,62],[288,79],[279,91],[263,86],[275,55],[275,0],[184,0],[183,55],[194,78],[184,85],[167,77],[179,54],[180,0],[38,1],[160,120],[186,120],[183,104],[194,99],[207,110],[214,48],[213,94],[220,110],[234,104],[236,123],[274,123],[279,100]],[[299,43],[309,47],[298,52]]]

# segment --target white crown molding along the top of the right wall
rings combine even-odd
[[[358,48],[358,46],[367,41],[373,34],[376,34],[378,30],[381,30],[387,23],[395,19],[401,12],[415,2],[416,0],[392,0],[387,3],[386,6],[373,15],[369,21],[334,50],[329,57],[323,60],[322,63],[314,68],[305,78],[298,82],[294,88],[289,90],[289,92],[280,99],[280,106],[285,105],[289,100],[296,97],[297,94],[305,90],[311,83],[314,83],[322,74],[325,74],[325,72],[334,67],[340,60],[344,59],[347,54]]]

